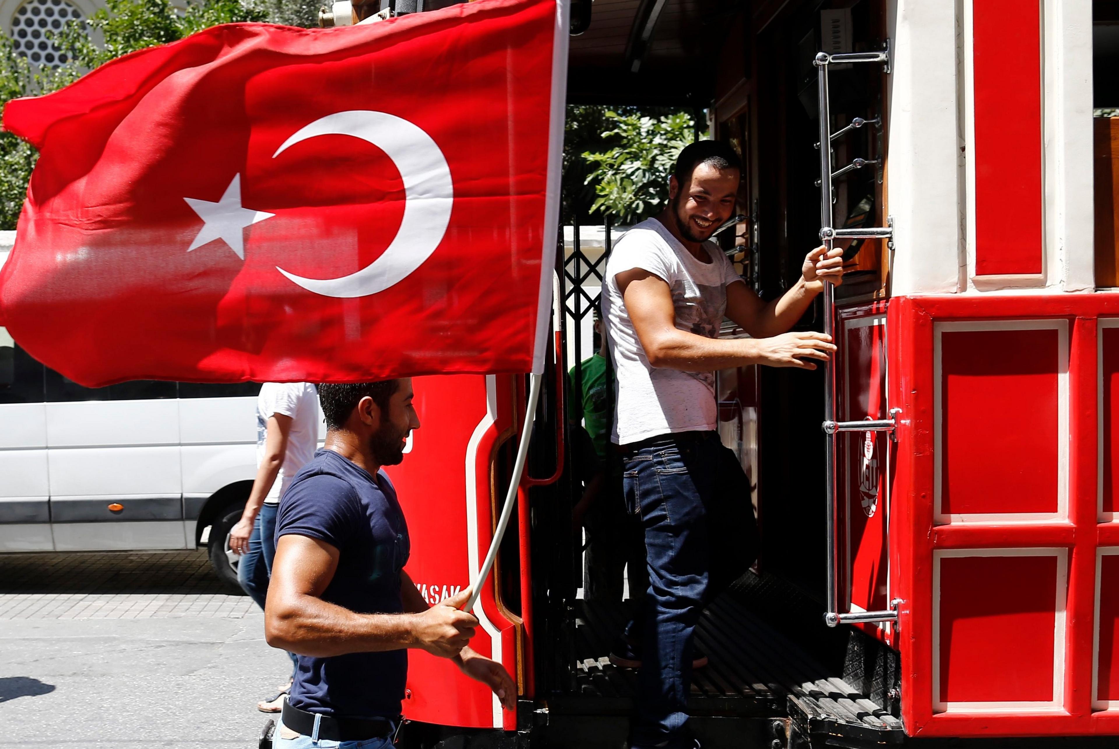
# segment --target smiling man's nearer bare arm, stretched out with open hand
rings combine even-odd
[[[821,333],[788,333],[772,338],[707,338],[676,327],[668,283],[634,268],[618,273],[618,288],[641,347],[653,367],[681,372],[714,372],[750,364],[815,369],[806,359],[826,362],[835,350]],[[733,284],[741,285],[741,284]]]

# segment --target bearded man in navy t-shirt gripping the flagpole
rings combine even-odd
[[[469,589],[429,607],[404,571],[408,528],[380,467],[399,464],[420,428],[412,381],[323,384],[319,401],[326,444],[292,479],[276,518],[265,638],[298,654],[299,666],[273,747],[391,747],[410,647],[450,658],[513,710],[508,672],[467,646],[478,619],[458,607]]]

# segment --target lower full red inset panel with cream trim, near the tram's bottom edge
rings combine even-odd
[[[940,560],[941,702],[1053,700],[1056,584],[1056,556]]]

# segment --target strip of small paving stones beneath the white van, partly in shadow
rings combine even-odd
[[[0,554],[0,620],[239,619],[256,606],[238,593],[204,550]]]

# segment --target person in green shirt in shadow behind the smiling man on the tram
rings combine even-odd
[[[623,575],[629,578],[630,599],[638,599],[649,584],[645,561],[645,533],[640,518],[626,512],[622,491],[622,461],[618,446],[610,441],[614,425],[614,369],[602,324],[601,307],[594,307],[594,333],[600,345],[594,354],[571,368],[572,393],[582,385],[583,427],[573,410],[572,446],[582,450],[582,462],[595,464],[580,471],[585,488],[573,511],[575,527],[586,531],[583,558],[583,596],[587,601],[621,602]],[[581,371],[582,383],[577,382]],[[622,543],[619,543],[619,540]],[[629,564],[628,574],[626,565]]]

